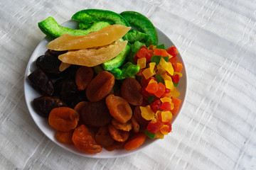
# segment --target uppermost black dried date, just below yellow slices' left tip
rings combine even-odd
[[[48,76],[60,74],[60,60],[57,57],[41,55],[36,60],[36,66],[43,70]]]

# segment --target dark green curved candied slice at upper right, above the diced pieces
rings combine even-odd
[[[156,28],[154,27],[153,23],[146,18],[146,16],[142,15],[142,13],[138,13],[136,11],[124,11],[120,13],[128,23],[137,28],[137,30],[141,31],[142,33],[146,33],[149,35],[149,40],[151,39],[153,45],[158,44],[158,35],[156,32]]]

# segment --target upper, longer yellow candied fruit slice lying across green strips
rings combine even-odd
[[[121,25],[106,26],[87,35],[74,36],[63,34],[48,43],[50,50],[83,50],[91,47],[109,45],[122,38],[131,28]]]

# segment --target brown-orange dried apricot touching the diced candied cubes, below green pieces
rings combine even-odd
[[[121,87],[122,97],[134,106],[142,105],[143,95],[142,86],[134,78],[127,78]]]

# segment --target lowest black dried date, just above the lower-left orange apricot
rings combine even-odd
[[[50,111],[53,108],[59,108],[63,106],[66,106],[63,101],[50,96],[41,96],[33,100],[33,107],[36,109],[36,113],[46,118],[48,118]]]

